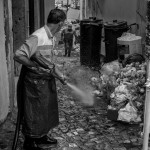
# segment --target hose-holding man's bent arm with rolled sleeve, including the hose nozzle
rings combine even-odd
[[[40,53],[35,52],[37,48],[37,39],[30,38],[15,53],[14,60],[27,67],[42,67],[49,69],[50,72],[64,84],[63,74],[55,67],[55,65],[47,61]],[[32,57],[31,57],[32,56]],[[31,59],[30,59],[31,58]]]

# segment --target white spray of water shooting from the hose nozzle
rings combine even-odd
[[[94,97],[92,96],[92,94],[83,91],[70,83],[67,83],[67,85],[74,91],[74,94],[79,97],[82,103],[89,106],[92,106],[94,104]]]

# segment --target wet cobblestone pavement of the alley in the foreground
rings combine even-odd
[[[70,59],[70,61],[73,59]],[[66,60],[69,63],[69,59]],[[93,107],[85,107],[67,86],[58,84],[60,124],[51,131],[58,140],[51,150],[141,150],[139,125],[113,122],[107,119],[107,105],[97,98]],[[0,149],[11,150],[17,110],[0,128]],[[23,137],[20,135],[19,148]],[[49,149],[50,150],[50,149]]]

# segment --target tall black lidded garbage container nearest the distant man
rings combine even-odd
[[[94,17],[80,22],[80,63],[90,67],[100,64],[102,20]]]

